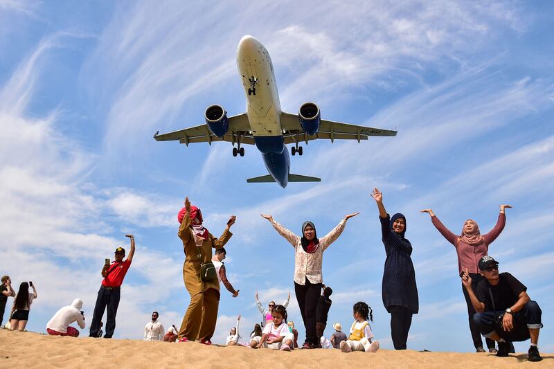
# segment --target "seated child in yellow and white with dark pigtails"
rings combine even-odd
[[[354,304],[354,318],[348,340],[342,341],[340,344],[342,352],[376,352],[379,350],[379,342],[372,342],[374,336],[368,322],[368,318],[373,322],[373,310],[368,304],[359,301]]]

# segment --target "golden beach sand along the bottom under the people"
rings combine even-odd
[[[0,368],[554,368],[554,354],[539,363],[527,354],[379,350],[277,352],[200,343],[143,342],[46,336],[0,330]]]

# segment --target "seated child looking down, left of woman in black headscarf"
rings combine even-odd
[[[277,305],[271,312],[273,321],[267,323],[262,332],[262,339],[257,348],[271,348],[274,350],[290,351],[292,349],[294,335],[289,330],[287,321],[287,309],[283,305]]]

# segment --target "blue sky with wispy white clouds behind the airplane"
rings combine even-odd
[[[225,265],[240,294],[222,288],[215,343],[238,314],[247,339],[261,320],[256,291],[263,305],[292,293],[303,341],[294,249],[260,213],[296,234],[312,220],[321,237],[359,211],[324,254],[334,291],[325,335],[350,326],[364,300],[391,349],[369,197],[379,188],[388,213],[406,215],[413,245],[420,312],[409,348],[474,351],[456,252],[419,210],[454,233],[475,219],[484,233],[510,204],[490,255],[539,303],[539,348],[554,352],[553,15],[549,1],[0,0],[0,274],[37,286],[28,330],[45,332],[77,297],[90,322],[102,264],[128,249],[125,233],[136,253],[114,337],[141,339],[154,310],[179,327],[189,295],[176,216],[188,196],[214,235],[237,216]],[[271,54],[283,111],[312,101],[322,118],[397,136],[310,141],[291,172],[321,183],[285,189],[246,183],[267,174],[256,147],[233,157],[230,143],[154,141],[204,123],[212,104],[244,112],[235,53],[247,34]]]

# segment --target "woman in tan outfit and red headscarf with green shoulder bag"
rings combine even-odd
[[[179,330],[179,342],[199,340],[200,343],[211,345],[220,305],[220,282],[215,274],[215,278],[203,280],[201,267],[211,262],[212,248],[221,249],[229,241],[233,235],[229,228],[235,223],[235,218],[231,215],[223,234],[217,238],[204,228],[200,209],[191,206],[188,197],[185,207],[177,215],[181,224],[178,235],[185,251],[183,279],[190,294],[190,304]]]

